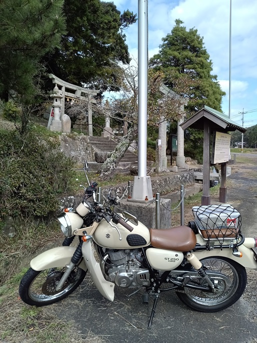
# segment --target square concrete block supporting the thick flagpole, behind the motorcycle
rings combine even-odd
[[[119,207],[135,215],[137,219],[148,228],[156,228],[155,201],[147,204],[142,202],[130,202],[129,199],[123,199],[120,201]],[[171,227],[171,211],[167,208],[171,208],[171,200],[161,198],[160,228]]]

